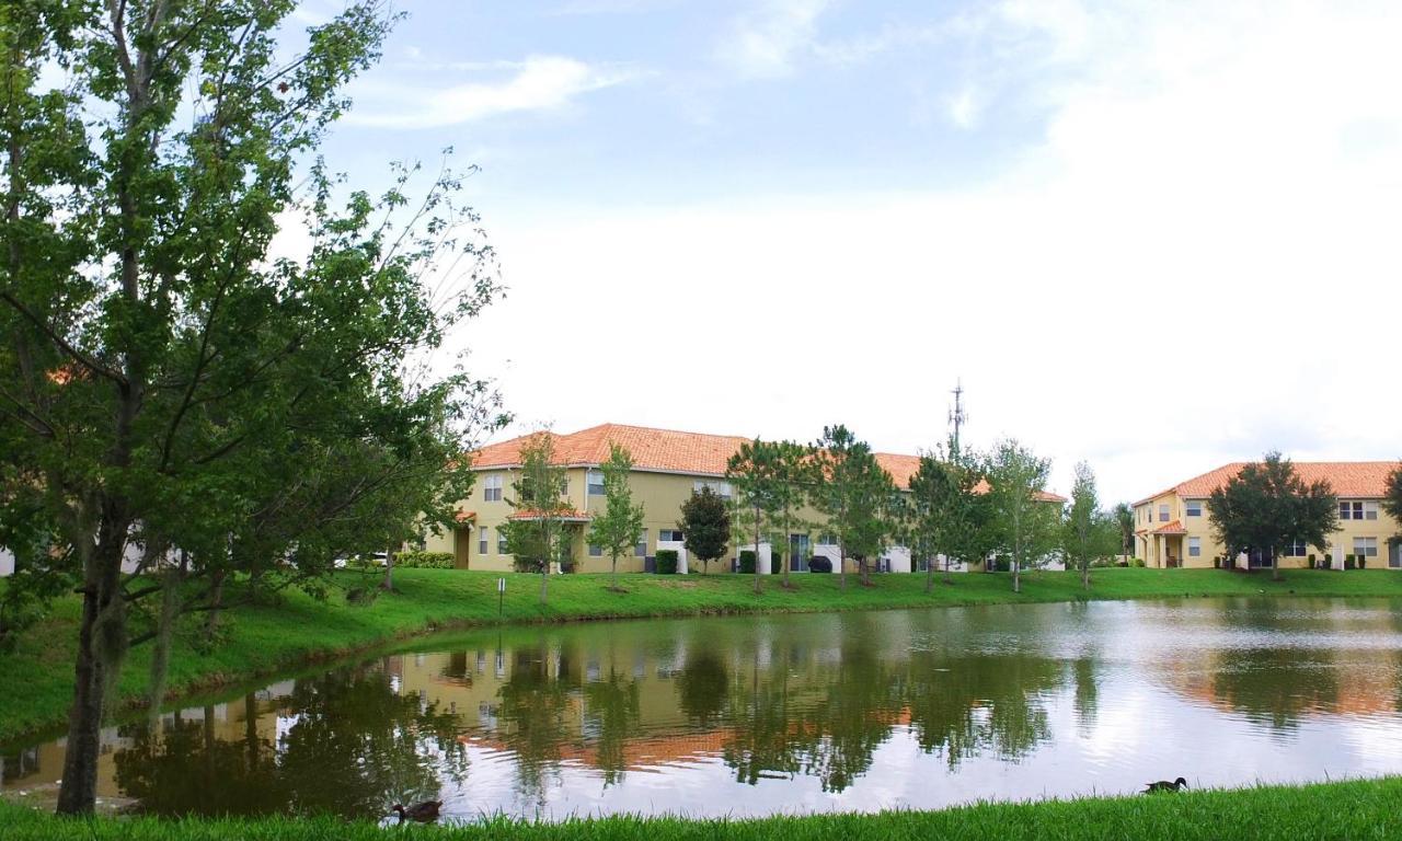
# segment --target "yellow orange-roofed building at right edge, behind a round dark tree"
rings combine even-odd
[[[1246,463],[1225,464],[1200,477],[1179,482],[1134,503],[1134,549],[1147,566],[1213,566],[1214,558],[1232,565],[1213,534],[1207,498],[1241,472]],[[1388,474],[1396,461],[1295,461],[1295,472],[1305,482],[1325,479],[1339,496],[1339,531],[1328,547],[1291,545],[1281,552],[1280,565],[1308,566],[1309,556],[1321,563],[1329,558],[1333,569],[1343,569],[1349,555],[1361,556],[1366,566],[1402,568],[1402,554],[1392,541],[1399,534],[1398,521],[1382,510]],[[1248,558],[1249,566],[1269,566],[1270,559]]]

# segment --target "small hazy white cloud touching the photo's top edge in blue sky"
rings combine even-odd
[[[765,0],[740,14],[716,46],[716,57],[740,76],[782,77],[812,50],[817,17],[830,0]]]

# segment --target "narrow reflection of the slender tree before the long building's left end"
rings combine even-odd
[[[547,646],[523,646],[512,652],[510,677],[498,690],[503,740],[516,758],[517,793],[540,807],[545,803],[545,774],[558,768],[559,746],[568,734],[568,657],[561,656],[552,678]]]

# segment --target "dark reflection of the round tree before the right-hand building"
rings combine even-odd
[[[1224,650],[1213,673],[1211,692],[1248,720],[1293,730],[1301,713],[1338,708],[1335,655],[1298,648]]]

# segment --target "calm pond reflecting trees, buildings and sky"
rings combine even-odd
[[[1187,600],[512,628],[104,733],[158,814],[758,816],[1402,772],[1402,604]],[[52,788],[62,741],[0,748]]]

